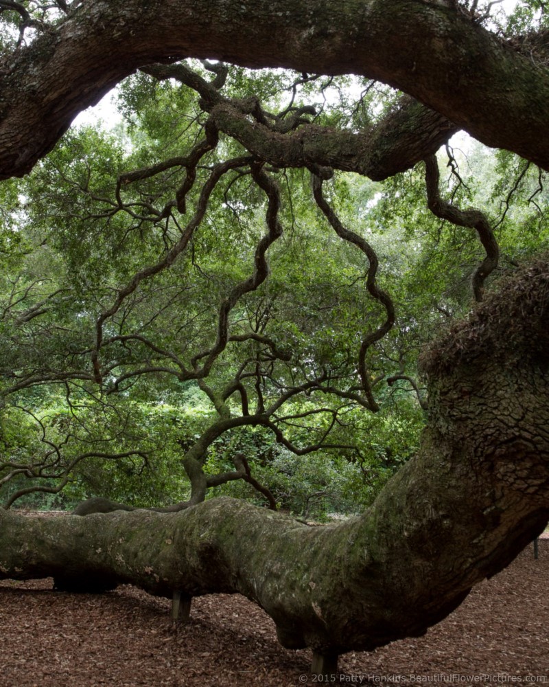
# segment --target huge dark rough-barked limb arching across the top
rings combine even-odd
[[[548,69],[449,0],[87,0],[0,65],[0,178],[137,67],[187,56],[375,78],[549,168]]]

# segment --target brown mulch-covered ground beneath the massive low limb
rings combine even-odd
[[[336,682],[549,684],[549,534],[477,585],[417,639],[340,657]],[[51,579],[0,582],[0,687],[294,687],[309,651],[277,643],[242,596],[196,598],[172,629],[170,601],[130,586],[103,595],[52,591]]]

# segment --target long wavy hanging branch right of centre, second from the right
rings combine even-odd
[[[366,289],[368,289],[369,294],[375,298],[382,306],[385,308],[386,319],[385,322],[379,326],[375,331],[367,334],[364,339],[362,339],[362,344],[360,346],[360,352],[358,357],[358,370],[360,373],[360,380],[362,381],[362,387],[364,389],[364,394],[368,400],[368,405],[372,411],[379,410],[379,405],[377,405],[375,398],[373,397],[369,372],[366,369],[366,354],[371,346],[373,346],[376,341],[380,341],[393,327],[395,324],[395,306],[393,301],[386,291],[379,289],[376,282],[377,267],[379,266],[379,260],[377,260],[377,254],[371,245],[362,236],[355,234],[355,232],[346,229],[342,223],[339,221],[338,216],[332,210],[332,208],[325,201],[322,192],[323,181],[316,174],[312,174],[313,182],[313,194],[314,199],[320,210],[329,221],[331,227],[334,229],[336,234],[340,236],[345,241],[352,243],[358,249],[364,253],[366,258],[368,258],[369,267],[366,273]]]

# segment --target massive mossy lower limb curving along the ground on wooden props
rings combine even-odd
[[[0,514],[0,575],[240,592],[285,646],[324,654],[420,635],[549,517],[549,266],[510,280],[425,354],[421,450],[362,516],[326,527],[228,498],[33,519]]]

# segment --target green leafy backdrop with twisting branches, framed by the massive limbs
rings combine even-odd
[[[19,47],[27,11],[4,10]],[[345,170],[377,178],[393,155],[363,153],[360,132],[402,144],[417,114],[351,76],[187,60],[143,67],[118,98],[115,130],[71,131],[3,185],[5,504],[66,488],[182,508],[244,479],[306,514],[323,488],[295,506],[272,471],[288,450],[341,456],[371,499],[417,446],[423,343],[467,311],[471,280],[481,300],[498,262],[544,244],[544,172],[446,146],[441,192],[423,146],[425,171],[359,181]]]

